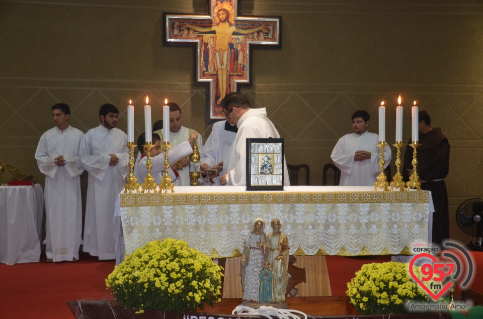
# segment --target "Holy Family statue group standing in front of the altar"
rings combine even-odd
[[[280,220],[273,219],[271,227],[266,235],[264,220],[256,218],[245,241],[240,261],[244,304],[286,307],[290,247]]]

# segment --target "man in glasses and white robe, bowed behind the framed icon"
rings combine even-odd
[[[265,108],[252,109],[249,99],[242,93],[226,94],[222,101],[223,114],[238,128],[227,172],[220,177],[221,185],[240,186],[247,184],[247,139],[248,138],[280,138],[280,134],[267,117]],[[287,162],[284,161],[285,186],[290,185]]]

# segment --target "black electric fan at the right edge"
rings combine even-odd
[[[471,236],[469,248],[482,250],[483,198],[470,198],[463,201],[456,209],[456,222],[465,234]],[[476,244],[473,244],[473,237],[477,238]]]

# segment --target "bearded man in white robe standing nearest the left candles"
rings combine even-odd
[[[116,196],[129,173],[127,135],[117,129],[119,110],[104,104],[101,125],[82,140],[79,156],[89,172],[83,251],[99,259],[115,259],[114,209]]]

